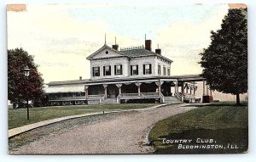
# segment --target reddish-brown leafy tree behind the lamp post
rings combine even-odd
[[[27,81],[23,73],[26,65],[30,69]],[[8,50],[8,99],[14,107],[16,104],[20,107],[26,98],[32,102],[39,102],[44,98],[44,80],[37,68],[32,55],[28,55],[22,48]]]

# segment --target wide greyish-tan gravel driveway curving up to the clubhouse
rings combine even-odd
[[[131,110],[66,120],[27,132],[13,140],[30,138],[10,147],[10,154],[148,154],[150,128],[169,116],[195,107],[173,104],[156,109]],[[44,132],[43,135],[40,132]],[[25,136],[25,137],[24,137]],[[12,143],[12,142],[10,142]],[[14,142],[13,142],[14,144]],[[12,145],[12,144],[10,144]],[[10,146],[9,145],[9,146]]]

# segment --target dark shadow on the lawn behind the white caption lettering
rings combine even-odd
[[[159,137],[161,140],[154,141],[160,143],[154,154],[237,154],[245,153],[248,148],[248,129],[230,128],[230,129],[195,129],[186,130],[180,133],[172,133],[168,136]],[[163,138],[166,139],[192,139],[192,142],[178,142],[174,144],[163,143]],[[196,142],[197,138],[213,139],[213,142]],[[199,140],[201,141],[201,140]],[[219,145],[223,148],[178,148],[178,144],[186,145]],[[228,145],[233,148],[228,148]],[[236,148],[237,147],[237,148]]]

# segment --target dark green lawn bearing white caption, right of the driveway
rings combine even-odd
[[[155,148],[154,154],[244,153],[248,148],[247,118],[247,105],[213,103],[159,121],[150,131],[149,140]],[[163,141],[165,138],[192,141],[166,143]],[[205,140],[197,141],[198,138]],[[200,145],[214,145],[214,147],[195,148]]]

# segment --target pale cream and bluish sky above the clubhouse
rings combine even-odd
[[[144,35],[172,59],[171,75],[200,74],[199,53],[220,29],[227,4],[51,4],[8,12],[8,48],[34,55],[44,82],[90,78],[86,57],[117,37],[119,47],[144,45]]]

